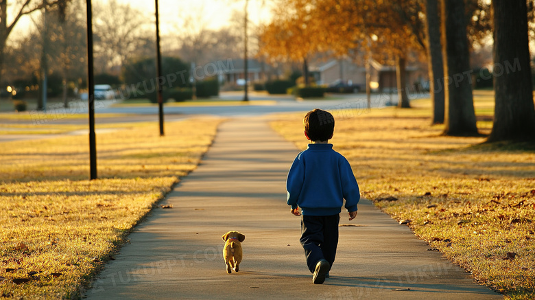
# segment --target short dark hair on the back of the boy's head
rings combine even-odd
[[[309,111],[302,123],[311,141],[326,141],[333,136],[334,117],[328,111],[318,108]]]

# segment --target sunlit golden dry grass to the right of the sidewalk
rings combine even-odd
[[[476,95],[478,116],[492,106],[487,98]],[[442,137],[442,126],[429,126],[429,100],[414,104],[360,116],[334,112],[332,143],[353,166],[363,196],[392,218],[411,220],[416,235],[477,281],[510,299],[533,299],[535,147]],[[302,149],[303,115],[272,123]],[[389,196],[396,200],[381,200]]]

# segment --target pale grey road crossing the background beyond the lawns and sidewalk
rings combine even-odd
[[[348,109],[349,115],[361,115],[362,113],[370,113],[374,109],[385,107],[390,102],[390,96],[387,94],[372,95],[371,111],[367,109],[368,102],[366,94],[342,94],[335,96],[327,96],[324,100],[296,100],[290,95],[268,95],[265,93],[252,92],[249,95],[250,101],[248,103],[236,104],[236,101],[243,100],[243,92],[222,92],[215,100],[215,104],[207,106],[200,102],[195,106],[191,103],[185,106],[171,106],[164,104],[164,119],[165,122],[177,121],[185,117],[193,115],[214,115],[218,117],[259,117],[269,115],[272,113],[289,113],[298,111],[311,111],[313,108],[322,108],[327,111],[336,109]],[[424,96],[425,95],[419,95]],[[416,96],[413,96],[414,98]],[[228,101],[228,103],[225,103]],[[158,106],[156,105],[132,105],[123,106],[115,105],[121,100],[103,100],[95,102],[95,112],[99,114],[96,119],[96,124],[111,124],[111,123],[130,123],[130,122],[158,122]],[[78,101],[71,102],[71,108],[57,108],[56,110],[49,110],[46,112],[29,111],[29,118],[17,119],[3,119],[0,121],[0,130],[10,131],[14,128],[1,124],[21,124],[21,125],[35,125],[36,127],[16,128],[20,131],[35,131],[41,125],[62,125],[62,124],[88,124],[86,117],[73,118],[70,115],[87,114],[87,102]],[[335,117],[338,118],[337,115]],[[69,132],[69,135],[83,135],[84,132],[78,130],[77,132]],[[38,135],[38,134],[10,134],[0,135],[0,142],[3,141],[17,141],[27,139],[46,139],[49,137],[58,137],[58,135]]]

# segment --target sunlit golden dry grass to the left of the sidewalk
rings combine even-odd
[[[87,137],[0,143],[0,295],[79,297],[132,227],[195,168],[219,122],[167,123],[165,137],[154,124],[97,135],[96,181],[86,180]]]

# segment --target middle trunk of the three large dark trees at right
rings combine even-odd
[[[444,58],[444,135],[479,135],[475,124],[464,0],[442,0]]]

